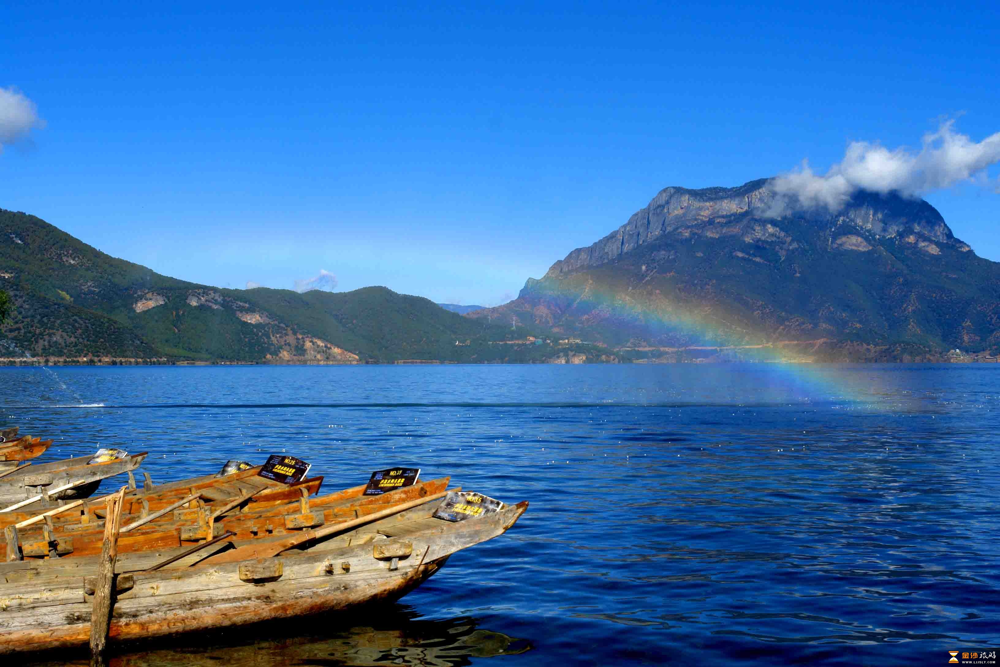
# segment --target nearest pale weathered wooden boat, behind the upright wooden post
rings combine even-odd
[[[227,554],[244,550],[238,543],[232,552],[215,551],[213,545],[154,570],[152,554],[123,554],[116,566],[109,641],[396,599],[437,572],[451,554],[504,533],[528,507],[522,502],[452,523],[432,516],[439,504],[434,500],[436,495],[414,501],[421,504],[406,511],[386,510],[363,525],[364,518],[341,530],[327,527],[325,534],[320,533],[324,529],[306,531],[294,549],[285,548],[291,544],[286,536],[242,545],[274,554],[262,558],[225,562]],[[0,584],[0,653],[86,645],[92,604],[88,591],[93,591],[86,578],[96,573],[97,565],[97,558],[0,564],[5,582]]]

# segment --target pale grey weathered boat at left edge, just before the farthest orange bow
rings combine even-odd
[[[90,496],[101,481],[135,470],[147,452],[129,454],[106,463],[89,464],[90,456],[21,466],[0,477],[0,508],[36,495],[46,500],[73,500]],[[72,486],[70,486],[72,485]],[[61,489],[61,490],[56,490]]]

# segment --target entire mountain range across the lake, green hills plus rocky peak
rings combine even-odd
[[[1000,264],[955,238],[933,206],[859,192],[836,212],[797,210],[767,179],[666,188],[496,308],[384,287],[199,285],[3,209],[0,288],[16,308],[0,341],[10,354],[0,357],[15,348],[49,359],[271,363],[677,360],[689,348],[739,358],[783,347],[818,361],[1000,352]]]

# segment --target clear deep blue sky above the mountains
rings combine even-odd
[[[201,283],[493,305],[663,187],[1000,131],[998,3],[873,4],[6,3],[46,125],[0,207]],[[927,199],[1000,260],[1000,194]]]

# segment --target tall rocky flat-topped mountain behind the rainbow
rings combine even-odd
[[[667,188],[515,301],[472,317],[490,314],[615,346],[976,352],[1000,347],[1000,264],[922,200],[858,193],[830,213],[784,209],[766,179]]]

